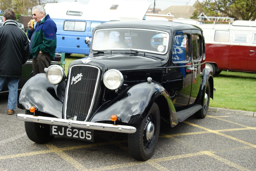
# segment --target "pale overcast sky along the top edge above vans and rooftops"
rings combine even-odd
[[[58,0],[58,2],[73,2],[74,0]],[[137,0],[139,1],[139,0]],[[154,0],[145,0],[150,2],[152,5],[150,8],[154,8]],[[83,2],[87,4],[89,0],[77,0],[77,2]],[[155,0],[156,6],[155,8],[161,8],[162,10],[167,9],[170,6],[177,6],[177,5],[191,5],[196,2],[196,0]]]

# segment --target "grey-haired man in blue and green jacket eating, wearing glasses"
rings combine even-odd
[[[33,58],[33,75],[36,75],[44,73],[44,69],[55,58],[57,27],[41,5],[32,8],[32,17],[37,24],[32,28],[29,22],[27,34],[30,39],[30,57]]]

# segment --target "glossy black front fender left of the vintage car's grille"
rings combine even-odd
[[[62,118],[64,94],[60,92],[65,92],[65,84],[50,84],[45,73],[31,77],[20,92],[18,108],[29,110],[31,106],[35,106],[38,111]]]

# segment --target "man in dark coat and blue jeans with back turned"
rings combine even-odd
[[[29,40],[15,20],[16,14],[13,9],[6,9],[3,26],[0,27],[0,91],[7,81],[7,114],[13,114],[16,109],[22,65],[30,56]]]

